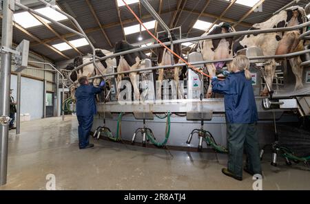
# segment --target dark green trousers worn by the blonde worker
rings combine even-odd
[[[245,148],[247,168],[254,174],[262,174],[256,124],[227,124],[227,139],[229,172],[242,177],[242,156]]]

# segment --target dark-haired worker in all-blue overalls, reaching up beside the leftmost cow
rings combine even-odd
[[[90,144],[90,130],[94,115],[96,115],[96,94],[101,93],[105,86],[102,81],[99,88],[89,84],[87,77],[79,78],[80,87],[76,89],[76,116],[79,121],[79,148],[92,148],[94,144]]]

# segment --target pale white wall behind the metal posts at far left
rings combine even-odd
[[[43,117],[43,82],[30,78],[21,78],[21,114],[29,113],[31,120]],[[17,100],[17,76],[11,76],[11,89]]]

